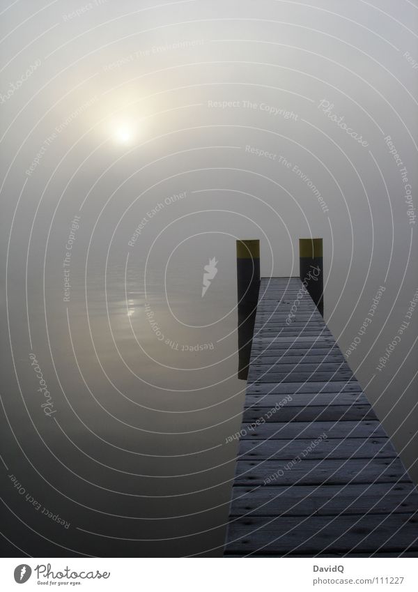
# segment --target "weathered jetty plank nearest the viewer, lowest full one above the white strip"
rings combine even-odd
[[[415,514],[342,515],[331,519],[313,516],[243,517],[230,523],[226,553],[263,554],[326,552],[418,551]]]

